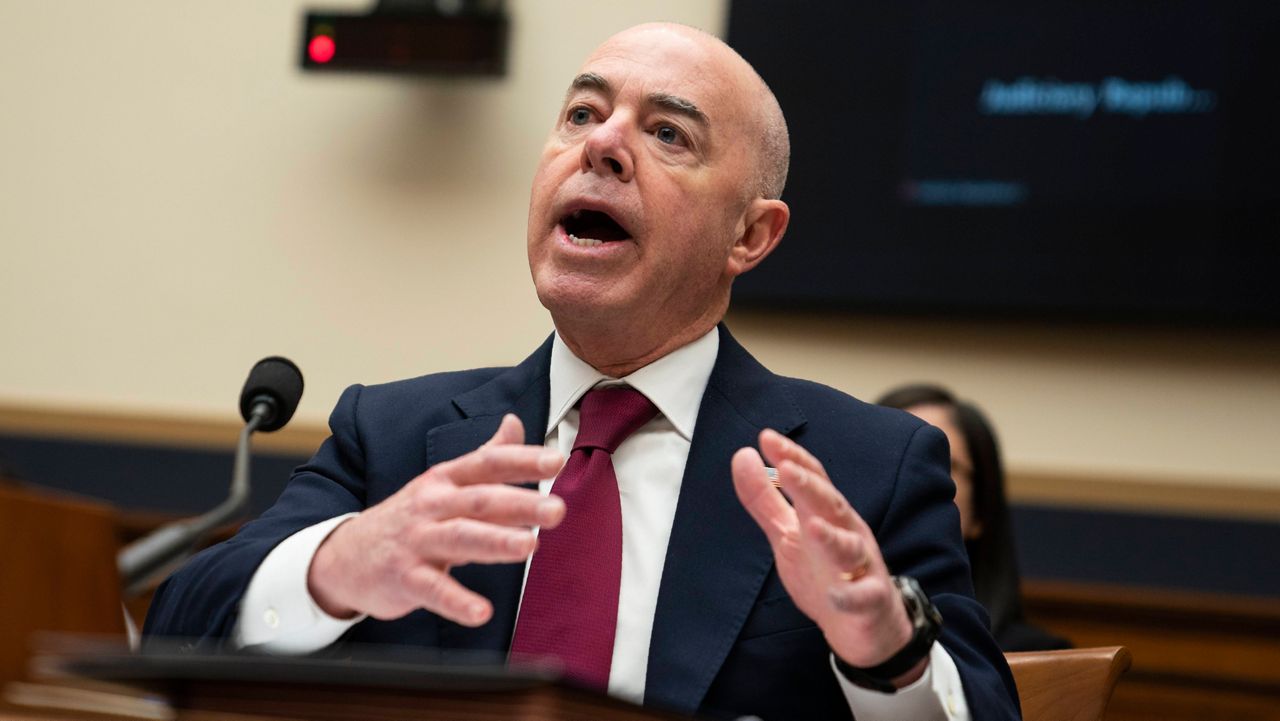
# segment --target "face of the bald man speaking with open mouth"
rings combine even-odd
[[[749,86],[722,50],[639,28],[573,81],[529,207],[529,264],[558,327],[659,336],[723,310],[755,151]]]

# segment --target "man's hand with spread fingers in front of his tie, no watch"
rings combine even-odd
[[[515,488],[550,478],[563,456],[525,446],[513,415],[480,448],[431,466],[394,496],[340,524],[320,544],[307,589],[330,616],[398,619],[426,608],[467,626],[485,624],[493,604],[449,575],[465,563],[524,561],[531,526],[556,528],[564,502]]]

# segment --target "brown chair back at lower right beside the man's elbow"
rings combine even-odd
[[[1132,657],[1123,645],[1006,653],[1024,721],[1102,721]]]

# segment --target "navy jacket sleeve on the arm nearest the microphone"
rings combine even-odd
[[[329,437],[293,471],[280,498],[229,540],[198,553],[156,590],[143,636],[182,638],[197,648],[229,643],[241,599],[259,565],[301,529],[365,508],[364,446],[357,425],[362,387],[343,392]]]

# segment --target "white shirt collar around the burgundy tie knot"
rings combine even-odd
[[[631,375],[616,379],[575,356],[559,333],[556,333],[552,342],[552,402],[547,414],[547,434],[550,435],[579,398],[593,387],[600,382],[621,382],[644,393],[676,426],[677,433],[686,441],[692,441],[698,409],[718,352],[719,333],[717,328],[712,328],[692,343],[676,348]]]

